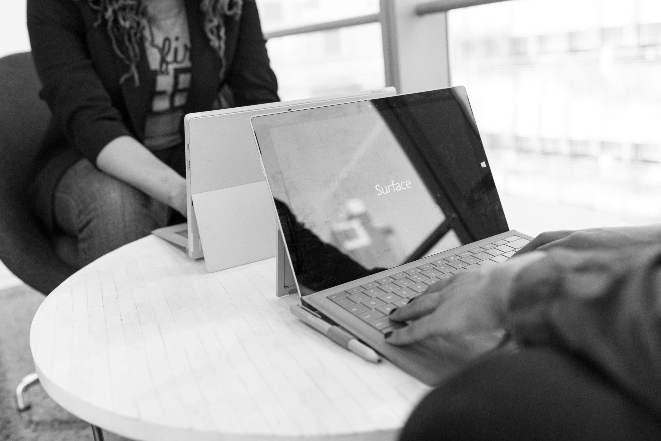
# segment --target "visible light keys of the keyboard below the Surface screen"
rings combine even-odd
[[[435,255],[428,263],[335,292],[326,298],[382,333],[387,333],[403,326],[388,319],[393,309],[404,306],[431,285],[449,279],[452,274],[471,271],[481,265],[503,263],[528,242],[525,238],[510,236],[480,244],[471,250],[444,255],[441,259]]]

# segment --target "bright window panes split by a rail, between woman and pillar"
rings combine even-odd
[[[269,32],[379,13],[379,0],[257,0]],[[269,38],[266,47],[282,100],[385,86],[381,24]]]

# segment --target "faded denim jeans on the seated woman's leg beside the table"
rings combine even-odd
[[[79,267],[166,226],[173,212],[85,158],[59,180],[53,209],[58,228],[77,238]]]

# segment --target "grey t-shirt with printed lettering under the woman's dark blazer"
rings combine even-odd
[[[168,20],[167,29],[162,24],[148,20],[145,30],[149,67],[157,72],[145,124],[144,145],[151,151],[169,149],[183,141],[179,128],[192,75],[186,10]]]

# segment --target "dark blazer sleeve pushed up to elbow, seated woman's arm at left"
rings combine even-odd
[[[96,164],[110,141],[132,134],[95,71],[81,12],[73,0],[28,0],[27,7],[40,96],[71,146]]]

